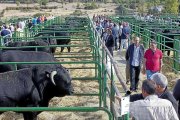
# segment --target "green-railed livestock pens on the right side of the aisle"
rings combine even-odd
[[[179,34],[177,33],[163,33],[165,30],[179,31],[179,26],[168,23],[159,23],[159,22],[150,22],[142,21],[135,19],[130,16],[111,16],[110,17],[114,22],[129,22],[131,28],[131,35],[136,35],[141,37],[142,44],[147,49],[149,48],[150,40],[155,39],[157,41],[157,46],[162,51],[171,51],[171,55],[168,56],[164,52],[164,66],[167,67],[168,71],[174,71],[179,74],[180,71],[180,40]],[[173,36],[173,38],[168,37],[167,35]],[[131,38],[132,39],[132,36]],[[172,44],[172,47],[169,45]]]

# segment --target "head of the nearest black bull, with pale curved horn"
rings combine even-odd
[[[66,68],[58,66],[50,73],[50,80],[56,89],[56,96],[65,96],[73,93],[72,78]]]

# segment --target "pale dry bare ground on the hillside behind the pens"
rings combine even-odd
[[[83,3],[79,3],[80,4],[80,8],[83,8]],[[104,3],[97,3],[97,5],[99,6],[98,9],[95,10],[84,10],[84,9],[79,9],[82,12],[86,12],[89,16],[93,16],[93,14],[115,14],[115,8],[117,7],[117,4],[115,3],[108,3],[108,4],[104,4]],[[16,4],[0,4],[0,11],[2,11],[4,8],[6,8],[6,6],[8,7],[17,7]],[[27,6],[26,4],[20,4],[20,6]],[[29,4],[28,6],[38,6],[38,4]],[[47,6],[58,6],[57,9],[54,10],[32,10],[32,11],[28,11],[28,12],[22,12],[19,10],[9,10],[6,11],[4,14],[4,18],[6,17],[13,17],[13,16],[22,16],[22,17],[27,17],[27,16],[33,16],[36,13],[50,13],[51,15],[54,16],[61,16],[61,15],[69,15],[71,13],[73,13],[76,10],[76,6],[77,3],[65,3],[62,4],[61,3],[56,3],[56,2],[50,2]]]

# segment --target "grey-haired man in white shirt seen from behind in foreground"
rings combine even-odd
[[[150,80],[142,83],[143,100],[130,103],[130,114],[136,120],[179,120],[169,100],[155,95],[156,84]]]

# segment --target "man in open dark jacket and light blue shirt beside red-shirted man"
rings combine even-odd
[[[126,51],[126,61],[130,68],[130,90],[136,91],[138,89],[139,76],[141,71],[141,65],[143,63],[144,47],[140,44],[140,38],[135,37],[134,43],[132,43]]]

